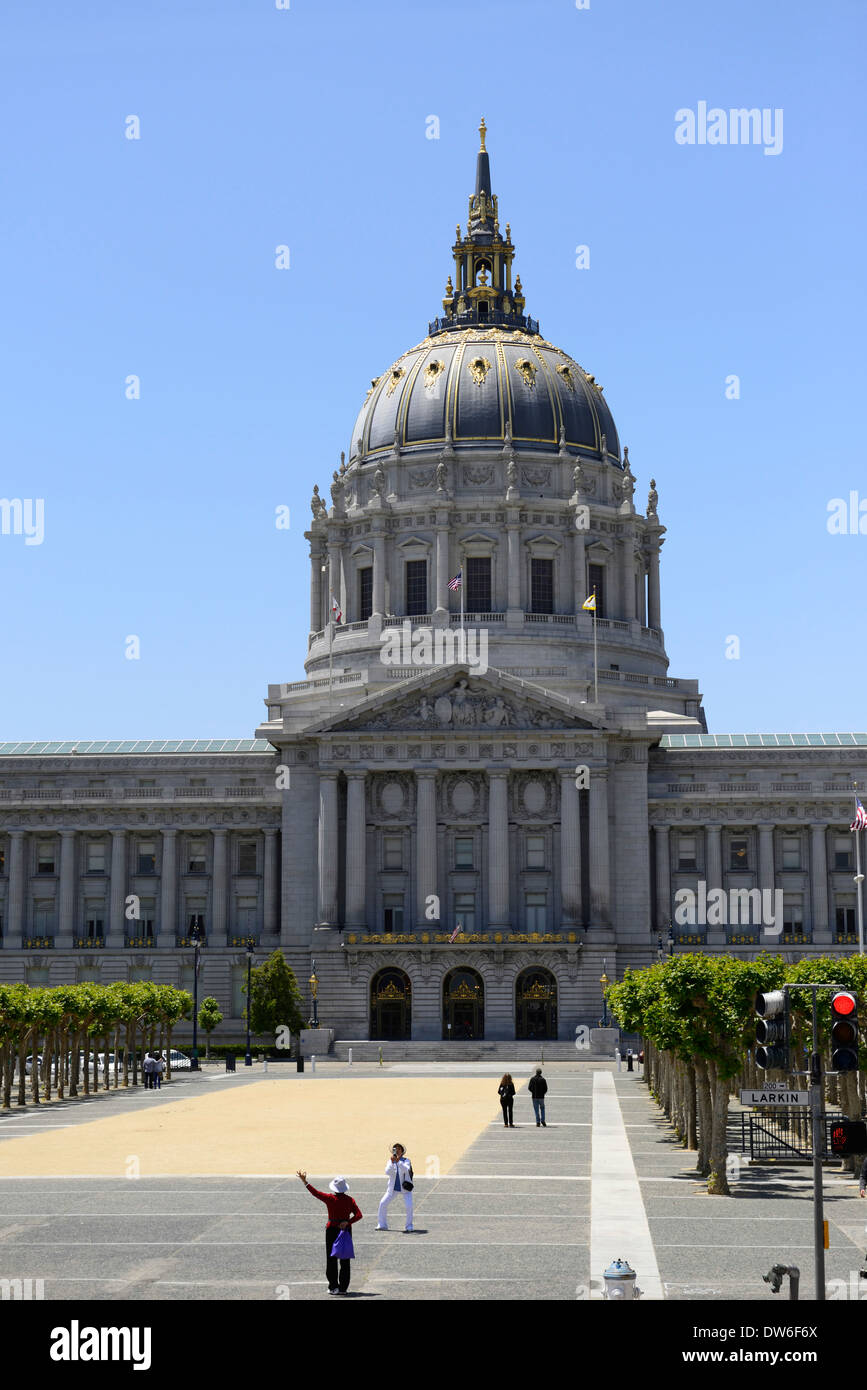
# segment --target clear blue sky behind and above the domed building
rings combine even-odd
[[[867,727],[867,535],[825,524],[867,499],[866,29],[861,0],[8,0],[0,493],[46,530],[0,537],[0,738],[247,737],[303,677],[311,486],[439,307],[482,114],[528,311],[657,480],[671,674],[714,733]],[[782,153],[675,143],[699,101],[781,107]]]

